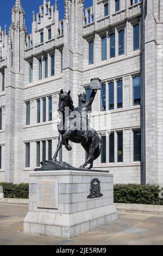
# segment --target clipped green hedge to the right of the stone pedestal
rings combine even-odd
[[[159,186],[142,184],[114,185],[114,203],[163,205]]]

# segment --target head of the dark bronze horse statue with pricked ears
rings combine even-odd
[[[58,111],[64,112],[65,107],[69,107],[71,111],[74,110],[73,101],[70,94],[70,90],[68,91],[68,93],[66,93],[61,89],[59,96]]]

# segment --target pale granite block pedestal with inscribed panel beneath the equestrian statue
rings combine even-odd
[[[95,178],[100,181],[102,197],[88,199]],[[93,180],[93,186],[99,190],[98,180]],[[24,232],[71,238],[116,218],[112,174],[94,170],[29,174],[29,211],[24,219]]]

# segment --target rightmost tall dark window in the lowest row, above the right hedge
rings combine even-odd
[[[141,130],[134,132],[134,161],[141,161]]]

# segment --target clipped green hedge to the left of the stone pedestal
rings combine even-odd
[[[22,198],[28,199],[29,184],[12,184],[7,182],[1,182],[0,186],[3,187],[3,193],[5,198]]]

